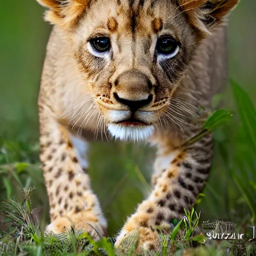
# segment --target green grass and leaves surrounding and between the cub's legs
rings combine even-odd
[[[214,111],[202,131],[186,142],[192,143],[202,134],[214,130],[216,156],[204,194],[198,197],[196,211],[186,212],[186,218],[177,221],[170,234],[161,235],[162,255],[256,253],[255,243],[248,242],[252,229],[247,227],[256,225],[256,110],[247,93],[234,81],[231,81],[231,88],[236,110],[232,113],[225,109]],[[214,105],[217,105],[219,98],[216,96]],[[123,216],[132,213],[136,203],[148,193],[148,169],[152,163],[146,159],[153,158],[154,150],[143,145],[121,143],[95,143],[92,146],[89,170],[92,186],[99,195],[112,237],[95,242],[81,231],[44,234],[44,226],[49,221],[48,201],[38,149],[38,143],[31,145],[27,141],[13,141],[6,135],[0,139],[0,199],[4,200],[0,211],[0,256],[118,253],[113,248],[114,234],[123,224]],[[110,156],[105,153],[107,151]],[[98,161],[98,155],[101,161]],[[102,183],[103,188],[100,186]],[[35,189],[31,192],[30,187],[33,186]],[[236,223],[236,232],[245,234],[244,243],[218,242],[205,237],[201,221],[222,218]],[[8,220],[7,223],[3,219]],[[132,255],[136,235],[130,239],[127,253]],[[194,243],[199,246],[193,248]]]

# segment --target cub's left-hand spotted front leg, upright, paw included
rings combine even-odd
[[[51,220],[46,231],[58,233],[73,226],[99,239],[105,234],[107,224],[90,188],[89,176],[79,164],[71,134],[42,102],[39,100],[40,159]]]

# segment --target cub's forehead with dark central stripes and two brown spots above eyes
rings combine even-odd
[[[176,7],[171,0],[90,0],[79,27],[89,33],[157,33],[173,26]]]

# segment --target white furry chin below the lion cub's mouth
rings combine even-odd
[[[112,137],[126,141],[143,141],[153,135],[152,125],[133,125],[128,123],[110,123],[107,126]]]

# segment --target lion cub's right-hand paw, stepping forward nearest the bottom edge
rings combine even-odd
[[[157,230],[149,227],[138,227],[130,232],[122,230],[114,246],[117,255],[127,255],[129,250],[132,251],[132,255],[150,255],[154,252],[161,254],[161,244],[161,237]]]

